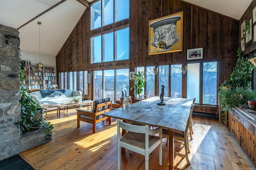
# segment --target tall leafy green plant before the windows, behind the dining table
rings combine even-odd
[[[134,94],[139,96],[140,101],[140,94],[142,93],[143,88],[145,87],[146,72],[139,71],[138,74],[134,74],[134,78],[132,79],[132,81],[134,82],[134,85],[132,86],[131,90],[134,89]]]

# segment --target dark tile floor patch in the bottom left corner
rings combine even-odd
[[[34,170],[34,168],[32,168],[19,155],[14,155],[0,161],[0,170]]]

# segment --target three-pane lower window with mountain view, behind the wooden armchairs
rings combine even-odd
[[[94,74],[94,100],[110,98],[113,102],[122,97],[122,90],[129,95],[129,69],[97,70]],[[115,88],[116,87],[116,88]]]

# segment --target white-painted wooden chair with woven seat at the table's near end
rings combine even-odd
[[[128,131],[120,137],[120,128]],[[159,133],[159,137],[155,134]],[[150,136],[150,138],[149,138]],[[138,126],[117,119],[117,169],[120,170],[120,147],[145,156],[145,170],[148,170],[149,154],[159,146],[159,165],[162,166],[162,129],[151,130],[148,125]]]

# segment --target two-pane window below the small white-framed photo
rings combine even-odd
[[[198,104],[215,105],[217,104],[216,96],[217,62],[189,63],[187,70],[187,98],[196,98],[196,103]]]

